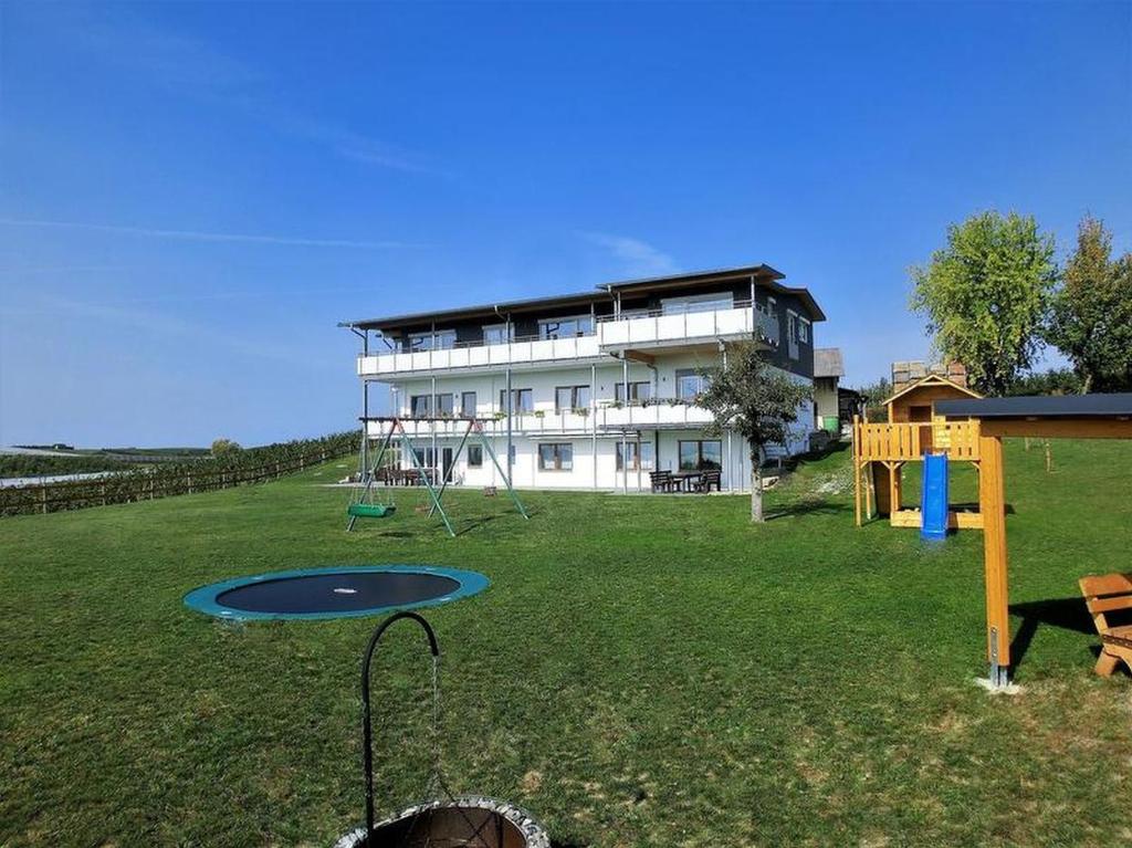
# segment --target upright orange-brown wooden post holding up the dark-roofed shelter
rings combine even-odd
[[[990,685],[1006,685],[1010,671],[1010,600],[1006,580],[1006,494],[1002,438],[979,436],[979,512],[987,603],[987,660]]]

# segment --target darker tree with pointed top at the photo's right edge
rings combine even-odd
[[[1054,294],[1046,340],[1081,378],[1081,393],[1132,384],[1132,254],[1112,260],[1113,237],[1087,215]]]

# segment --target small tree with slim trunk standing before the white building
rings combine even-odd
[[[798,410],[809,400],[809,386],[773,368],[753,342],[727,345],[724,365],[706,369],[707,388],[696,404],[712,413],[710,435],[734,430],[751,448],[751,520],[763,520],[763,448],[784,444]]]

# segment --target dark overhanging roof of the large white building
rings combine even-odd
[[[571,307],[589,305],[592,301],[609,300],[612,292],[635,293],[641,291],[663,290],[679,285],[711,284],[723,280],[737,280],[740,277],[756,276],[760,284],[773,291],[798,295],[806,305],[814,320],[825,320],[825,314],[817,306],[817,301],[807,289],[791,288],[782,285],[779,280],[783,279],[781,272],[775,271],[770,265],[743,265],[735,268],[720,268],[717,271],[695,271],[686,274],[672,274],[671,276],[649,277],[644,280],[624,280],[617,283],[602,283],[588,292],[576,292],[573,294],[560,294],[546,298],[530,298],[525,300],[511,300],[499,303],[480,303],[478,306],[458,307],[455,309],[438,309],[429,312],[413,312],[410,315],[394,315],[381,318],[365,318],[360,320],[340,322],[340,327],[354,327],[357,329],[396,329],[398,327],[418,325],[428,322],[448,322],[456,319],[490,318],[499,312],[530,312],[538,309],[551,307]]]

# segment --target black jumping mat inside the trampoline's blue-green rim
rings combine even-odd
[[[417,572],[334,572],[278,577],[229,589],[216,602],[247,613],[351,613],[429,601],[460,582]]]

